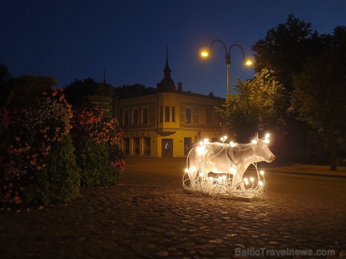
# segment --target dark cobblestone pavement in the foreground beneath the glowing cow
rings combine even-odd
[[[138,170],[81,194],[0,211],[0,258],[253,258],[236,248],[329,249],[339,258],[346,250],[346,203],[275,192],[251,203],[215,199],[183,193],[180,176]]]

